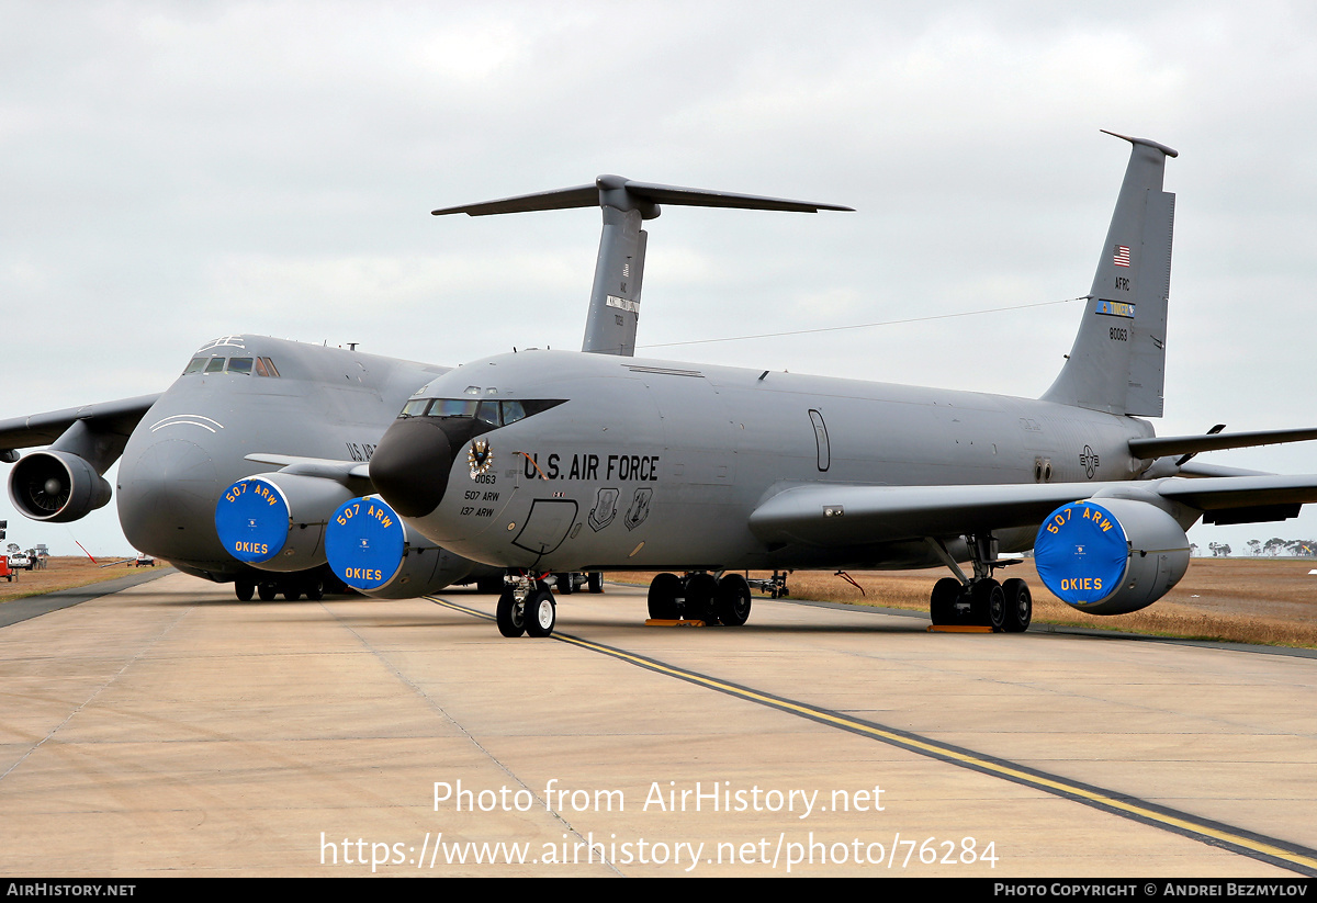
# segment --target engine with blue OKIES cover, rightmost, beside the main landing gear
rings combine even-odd
[[[1071,608],[1125,615],[1180,582],[1189,567],[1189,537],[1147,502],[1073,502],[1038,528],[1034,562],[1047,588]]]

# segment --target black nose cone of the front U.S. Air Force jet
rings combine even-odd
[[[370,480],[403,517],[424,517],[444,500],[453,445],[431,417],[395,420],[370,457]]]

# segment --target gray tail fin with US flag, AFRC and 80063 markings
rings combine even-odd
[[[1162,416],[1166,312],[1171,294],[1175,195],[1162,191],[1176,151],[1130,138],[1130,162],[1069,359],[1046,401],[1093,411]]]

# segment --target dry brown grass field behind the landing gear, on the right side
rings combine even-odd
[[[1314,567],[1317,559],[1312,558],[1196,558],[1166,598],[1133,615],[1110,617],[1084,615],[1059,602],[1038,579],[1033,559],[998,571],[998,579],[1021,577],[1029,582],[1035,623],[1317,648],[1317,574],[1308,573]],[[648,583],[652,577],[608,574],[608,579],[626,583]],[[817,571],[792,574],[788,586],[794,599],[927,611],[928,591],[946,571],[863,571],[851,577],[864,588],[863,595],[843,578]]]

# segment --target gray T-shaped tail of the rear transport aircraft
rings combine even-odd
[[[524,213],[528,211],[564,211],[577,207],[599,207],[603,232],[599,236],[599,259],[594,266],[594,288],[590,312],[585,321],[582,351],[631,357],[636,351],[636,324],[640,320],[640,283],[645,269],[645,245],[649,233],[640,228],[661,212],[658,204],[681,207],[731,207],[749,211],[785,211],[817,213],[818,211],[852,211],[836,204],[815,204],[784,197],[735,195],[706,188],[680,188],[648,182],[632,182],[620,175],[601,175],[593,186],[541,191],[503,200],[490,200],[464,207],[432,211],[435,216],[466,213]]]

